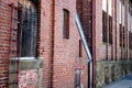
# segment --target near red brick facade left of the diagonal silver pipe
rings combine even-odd
[[[1,0],[0,4],[1,88],[14,88],[18,85],[18,73],[14,72],[14,76],[11,76],[12,68],[15,67],[12,67],[13,64],[20,66],[20,68],[16,68],[19,70],[20,88],[36,88],[36,86],[38,88],[74,88],[75,86],[87,88],[87,55],[85,54],[75,22],[76,0]],[[14,10],[14,8],[20,9],[21,7],[22,13],[19,10]],[[35,10],[37,10],[37,18],[35,16]],[[69,18],[69,24],[66,24],[69,30],[68,38],[63,35],[65,30],[63,24],[65,20],[64,10],[68,11],[69,14],[67,16]],[[20,23],[16,24],[12,21],[14,16],[18,21],[20,20]],[[21,16],[22,25],[20,26]],[[33,34],[35,33],[35,26],[33,25],[35,25],[36,20],[30,16],[37,19],[36,36]],[[16,30],[14,25],[16,25]],[[22,32],[20,32],[21,29]],[[14,41],[12,37],[14,37]],[[35,53],[33,53],[35,43],[31,41],[34,41],[34,38],[36,38]],[[13,45],[13,48],[10,45]],[[16,57],[20,61],[19,65]],[[41,59],[43,59],[43,63]],[[33,64],[36,64],[36,67]],[[41,69],[41,64],[44,65],[43,70]],[[36,69],[37,65],[38,69]],[[77,68],[81,70],[81,84],[79,85],[75,80]],[[8,82],[10,79],[12,80]],[[40,80],[42,80],[42,84],[38,82]]]

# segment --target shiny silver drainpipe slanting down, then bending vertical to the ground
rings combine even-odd
[[[80,23],[80,20],[79,20],[79,16],[78,14],[76,13],[76,24],[77,24],[77,28],[78,28],[78,32],[80,34],[80,37],[82,40],[82,44],[85,46],[85,50],[86,50],[86,53],[87,53],[87,56],[88,56],[88,63],[90,64],[90,87],[89,88],[92,88],[92,57],[91,57],[91,53],[90,53],[90,48],[88,47],[88,43],[86,41],[86,37],[85,37],[85,34],[84,34],[84,31],[82,31],[82,26],[81,26],[81,23]]]

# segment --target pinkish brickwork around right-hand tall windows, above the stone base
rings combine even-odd
[[[119,0],[117,0],[119,1]],[[118,3],[118,2],[117,2]],[[102,1],[101,0],[96,0],[96,58],[97,61],[106,59],[108,55],[108,59],[116,59],[116,47],[117,47],[117,59],[125,58],[127,56],[127,48],[122,50],[121,54],[121,47],[120,47],[120,31],[119,31],[119,22],[118,22],[118,15],[119,15],[119,4],[113,4],[113,44],[110,45],[102,42]],[[116,8],[117,7],[117,8]],[[116,16],[116,9],[117,9],[117,16]],[[116,22],[117,20],[117,22]],[[127,20],[127,18],[125,18]],[[127,29],[127,28],[125,28]],[[117,34],[116,34],[117,30]],[[127,31],[125,31],[127,33]],[[125,37],[128,35],[125,34]],[[117,46],[116,46],[116,37],[117,37]],[[127,44],[127,41],[125,41]]]

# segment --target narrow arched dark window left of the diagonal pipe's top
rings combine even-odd
[[[69,38],[69,11],[63,10],[63,37]]]

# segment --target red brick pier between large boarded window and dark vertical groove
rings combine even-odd
[[[41,24],[37,38],[37,56],[44,57],[43,87],[51,88],[51,59],[52,59],[52,0],[41,0]]]

